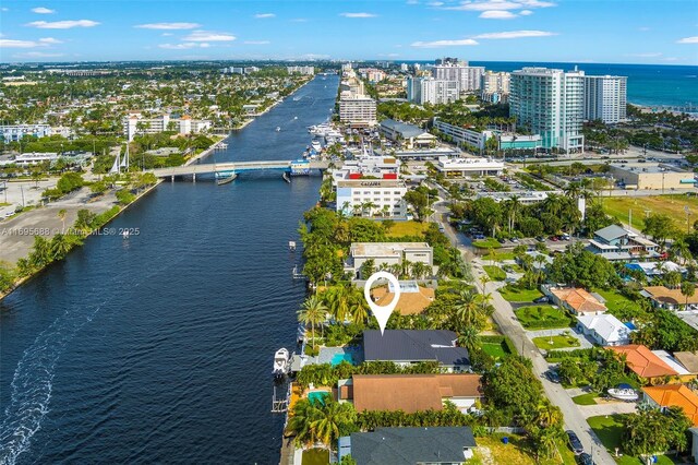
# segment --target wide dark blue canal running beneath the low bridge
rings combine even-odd
[[[205,162],[299,157],[337,86],[315,78]],[[287,245],[318,186],[163,183],[111,224],[137,235],[92,237],[0,302],[0,464],[278,463],[272,359],[304,297]]]

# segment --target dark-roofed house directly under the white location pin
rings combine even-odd
[[[378,330],[363,332],[365,361],[392,361],[410,366],[420,361],[437,361],[446,372],[470,370],[470,355],[456,346],[458,336],[445,330]]]

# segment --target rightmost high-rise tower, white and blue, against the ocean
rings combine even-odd
[[[627,78],[585,76],[585,119],[615,124],[626,119]]]

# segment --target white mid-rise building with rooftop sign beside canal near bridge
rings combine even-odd
[[[399,179],[347,179],[337,181],[337,212],[346,215],[407,215],[402,198],[407,186]]]

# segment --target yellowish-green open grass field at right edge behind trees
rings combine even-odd
[[[640,230],[645,226],[642,218],[645,218],[646,211],[669,215],[678,230],[686,230],[685,206],[690,208],[693,212],[688,217],[689,222],[693,224],[693,222],[698,219],[696,216],[696,212],[698,211],[698,198],[687,196],[685,194],[652,195],[643,198],[604,198],[602,195],[602,199],[605,212],[626,225],[628,223],[628,211],[633,210],[633,226]]]

